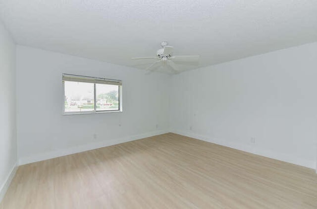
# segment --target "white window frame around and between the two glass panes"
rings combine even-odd
[[[66,112],[65,111],[65,81],[73,81],[80,83],[94,84],[94,110],[92,111],[80,111],[80,112]],[[72,74],[62,74],[62,84],[63,84],[63,115],[83,115],[83,114],[99,114],[99,113],[119,113],[122,112],[122,81],[114,79],[96,78],[89,76],[78,76]],[[113,84],[118,85],[119,95],[119,110],[97,110],[97,96],[96,96],[96,84]]]

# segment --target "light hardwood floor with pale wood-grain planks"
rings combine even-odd
[[[21,166],[0,208],[317,209],[317,174],[168,133]]]

